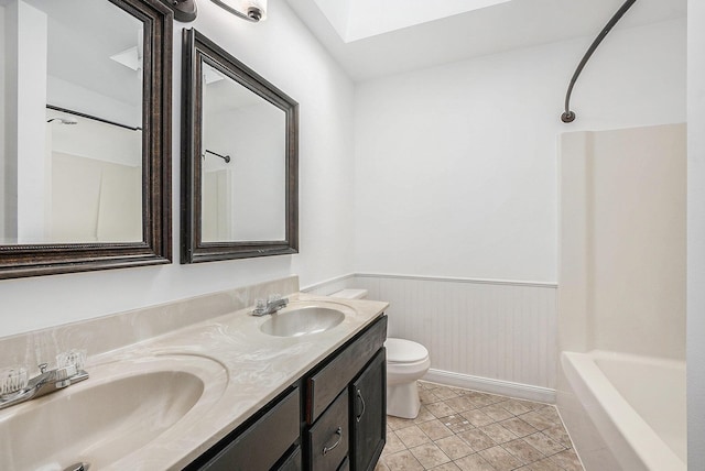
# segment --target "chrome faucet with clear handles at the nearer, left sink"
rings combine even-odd
[[[66,366],[56,368],[55,370],[46,370],[48,365],[42,363],[39,365],[40,374],[26,381],[26,384],[22,379],[18,376],[8,376],[0,379],[6,381],[7,384],[13,384],[13,387],[2,387],[2,394],[0,394],[0,409],[21,404],[37,397],[42,397],[46,394],[51,394],[55,391],[68,387],[72,384],[88,379],[88,373],[79,369],[76,364],[68,364]],[[26,372],[24,369],[13,370],[15,373],[24,374],[26,380]]]

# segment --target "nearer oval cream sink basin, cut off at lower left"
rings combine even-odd
[[[228,382],[220,363],[188,354],[87,370],[82,383],[0,413],[0,469],[107,468],[197,418]]]

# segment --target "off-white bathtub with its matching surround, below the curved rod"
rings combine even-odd
[[[685,131],[561,136],[557,406],[588,471],[685,469]]]

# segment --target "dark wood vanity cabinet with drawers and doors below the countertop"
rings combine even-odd
[[[186,470],[373,470],[386,439],[386,339],[382,315]]]

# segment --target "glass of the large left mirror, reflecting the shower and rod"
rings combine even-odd
[[[106,121],[141,127],[142,22],[108,1],[3,3],[0,243],[141,241],[141,132]]]

